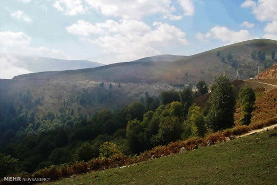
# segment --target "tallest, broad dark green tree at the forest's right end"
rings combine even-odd
[[[234,125],[235,97],[229,78],[222,76],[217,80],[218,88],[210,97],[210,110],[206,116],[207,126],[214,131]]]

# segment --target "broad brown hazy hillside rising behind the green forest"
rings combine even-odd
[[[24,104],[21,97],[43,97],[37,112],[58,112],[60,108],[84,113],[103,108],[116,109],[143,100],[145,92],[159,96],[165,90],[182,90],[204,80],[208,85],[221,76],[231,79],[255,77],[270,64],[277,41],[255,39],[191,56],[159,55],[96,68],[40,72],[0,80],[1,101]],[[265,59],[253,53],[265,54]],[[224,60],[225,58],[225,60]]]

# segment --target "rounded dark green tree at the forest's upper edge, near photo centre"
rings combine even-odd
[[[145,107],[142,102],[134,102],[124,108],[125,120],[130,121],[133,119],[143,120]]]

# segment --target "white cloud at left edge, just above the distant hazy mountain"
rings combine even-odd
[[[54,57],[70,59],[66,53],[46,47],[31,47],[31,38],[23,32],[0,32],[0,53],[15,53],[24,55],[36,55],[45,57]]]

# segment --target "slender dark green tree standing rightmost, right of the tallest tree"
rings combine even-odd
[[[242,117],[239,121],[243,125],[249,125],[251,122],[251,112],[254,110],[256,100],[253,89],[251,87],[242,89],[239,93],[239,100],[242,104]]]

